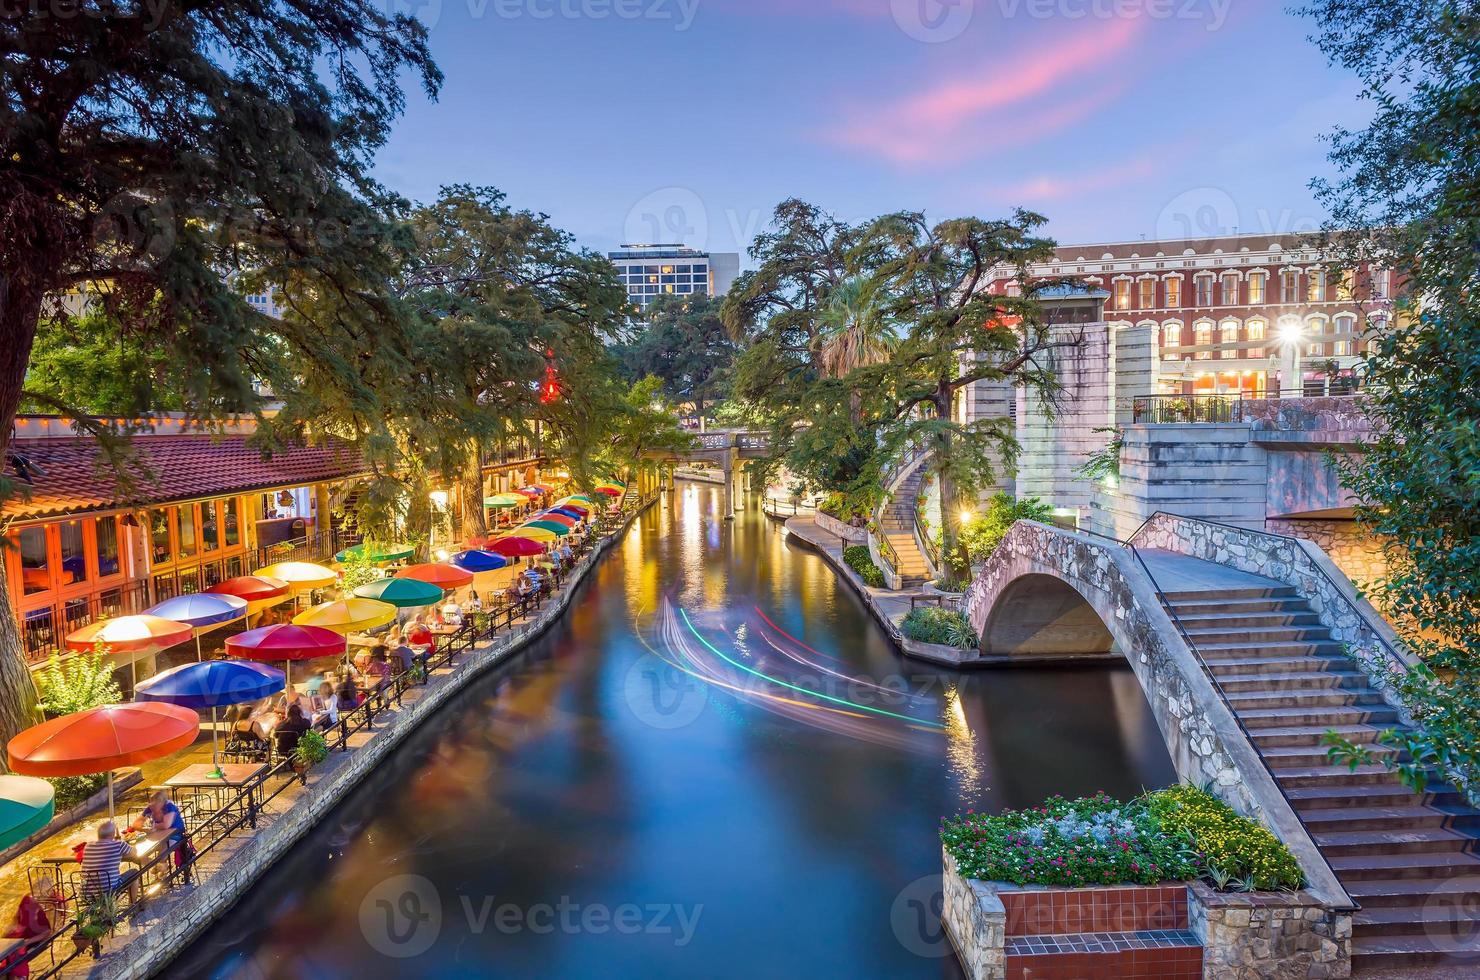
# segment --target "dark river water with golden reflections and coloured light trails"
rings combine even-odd
[[[956,976],[943,814],[1169,782],[1128,669],[903,662],[753,502],[679,484],[170,973]]]

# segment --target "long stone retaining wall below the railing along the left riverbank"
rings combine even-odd
[[[363,777],[371,773],[426,718],[432,716],[477,677],[522,650],[559,619],[570,605],[577,586],[596,565],[596,561],[656,499],[639,506],[622,528],[604,537],[585,567],[579,568],[568,580],[567,588],[561,589],[555,601],[540,608],[531,622],[477,645],[463,654],[463,659],[450,672],[434,674],[429,684],[414,688],[419,694],[417,699],[397,711],[386,727],[376,730],[371,739],[354,748],[348,754],[348,759],[339,761],[336,758],[337,765],[330,771],[317,777],[311,774],[309,786],[293,799],[292,807],[275,814],[271,823],[259,823],[258,832],[237,847],[219,869],[185,893],[173,903],[169,913],[158,916],[148,930],[141,931],[127,943],[110,949],[93,967],[90,976],[105,980],[142,980],[161,971],[194,937],[231,909],[278,859],[308,835],[326,814],[354,791]]]

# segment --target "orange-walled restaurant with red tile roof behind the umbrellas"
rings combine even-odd
[[[358,540],[343,517],[369,475],[358,452],[329,440],[265,456],[253,432],[252,420],[207,432],[154,417],[132,437],[120,478],[98,440],[70,420],[15,420],[0,469],[13,484],[0,511],[0,560],[33,663],[65,653],[67,634],[96,619],[275,561],[330,561]],[[533,483],[539,463],[525,443],[500,447],[484,460],[485,483]],[[438,496],[447,493],[456,505],[456,489]]]

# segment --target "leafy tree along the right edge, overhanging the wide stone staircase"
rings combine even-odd
[[[1439,764],[1480,783],[1480,12],[1470,1],[1317,0],[1314,41],[1363,86],[1368,126],[1331,135],[1316,181],[1336,259],[1403,289],[1366,358],[1381,423],[1347,465],[1359,520],[1387,543],[1376,598],[1425,666],[1396,678],[1422,722],[1415,783]]]

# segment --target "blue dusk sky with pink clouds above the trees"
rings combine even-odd
[[[743,250],[795,195],[1049,218],[1063,243],[1307,231],[1356,84],[1283,0],[379,0],[445,73],[377,161],[582,244]]]

